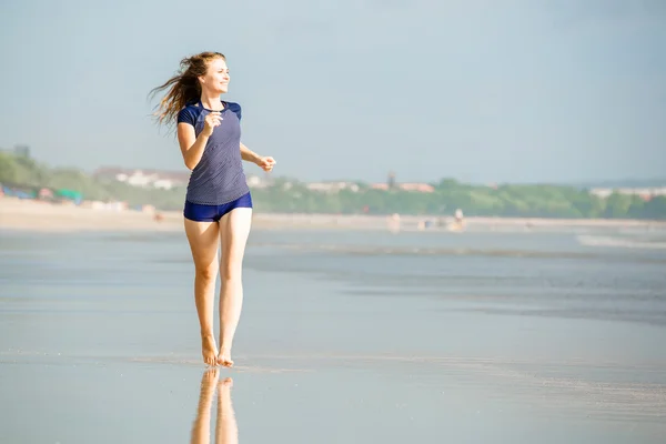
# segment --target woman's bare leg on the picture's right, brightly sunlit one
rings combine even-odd
[[[231,346],[243,306],[242,268],[252,224],[252,209],[236,208],[220,220],[220,354],[218,364],[232,366]]]

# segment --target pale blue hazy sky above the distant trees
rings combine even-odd
[[[275,175],[666,176],[662,0],[3,0],[0,36],[0,147],[56,167],[186,171],[148,93],[211,50]]]

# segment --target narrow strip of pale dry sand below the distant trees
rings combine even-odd
[[[159,220],[155,215],[159,214]],[[402,231],[418,231],[424,220],[434,216],[401,215]],[[452,218],[444,218],[447,223]],[[279,214],[255,212],[254,230],[381,230],[386,231],[385,215]],[[40,201],[0,198],[0,230],[37,232],[73,231],[181,231],[180,211],[100,210]],[[539,218],[465,218],[465,231],[559,231],[586,229],[666,230],[666,221]],[[423,231],[456,231],[430,226]]]

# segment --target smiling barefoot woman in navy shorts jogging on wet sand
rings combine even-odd
[[[183,160],[192,171],[183,215],[194,261],[194,302],[203,361],[230,367],[243,304],[242,262],[252,222],[252,196],[242,160],[266,172],[273,170],[275,161],[241,143],[241,105],[220,98],[229,89],[226,58],[220,52],[202,52],[181,60],[180,65],[180,73],[151,93],[167,90],[155,113],[158,122],[176,123]],[[213,329],[218,272],[219,350]]]

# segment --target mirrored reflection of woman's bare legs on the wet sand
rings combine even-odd
[[[211,411],[213,407],[213,395],[218,389],[218,417],[215,425],[215,443],[236,444],[239,442],[239,428],[231,403],[231,387],[233,381],[226,377],[219,381],[219,369],[209,369],[201,377],[201,392],[199,394],[199,406],[196,417],[192,424],[191,444],[208,444],[211,437]]]

